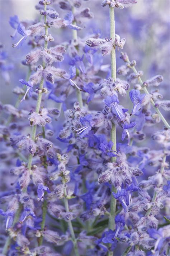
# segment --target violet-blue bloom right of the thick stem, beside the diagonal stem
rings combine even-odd
[[[135,114],[140,108],[143,100],[145,98],[145,93],[141,94],[139,90],[131,90],[129,91],[129,96],[131,101],[133,102],[133,110],[131,114]]]

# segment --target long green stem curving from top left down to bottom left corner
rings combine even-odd
[[[44,5],[44,11],[46,11],[46,10],[47,10],[47,5]],[[45,33],[46,33],[46,36],[48,36],[48,26],[47,26],[47,17],[46,17],[46,15],[44,15],[44,24],[45,24]],[[44,48],[45,49],[47,49],[47,45],[48,45],[48,41],[45,41],[44,42]],[[43,66],[43,68],[46,67],[46,62],[45,61],[43,61],[42,66]],[[44,78],[42,78],[42,80],[40,82],[40,89],[41,90],[43,89],[43,84],[44,84]],[[40,109],[40,106],[41,106],[41,100],[42,100],[42,93],[39,93],[38,94],[38,99],[37,99],[37,105],[36,105],[36,113],[39,113],[39,109]],[[31,136],[32,140],[35,140],[35,138],[36,138],[36,130],[37,130],[37,125],[34,125],[32,127],[32,136]],[[31,170],[32,159],[33,159],[32,154],[29,154],[28,166],[27,166],[29,170]],[[27,188],[23,189],[23,193],[25,193],[25,192],[27,192]],[[22,204],[20,204],[19,209],[15,214],[13,225],[18,222],[21,211],[22,211]],[[11,238],[8,237],[8,239],[6,240],[5,245],[4,245],[4,250],[3,250],[4,255],[7,254],[10,243],[11,243]]]

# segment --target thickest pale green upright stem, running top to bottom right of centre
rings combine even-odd
[[[109,16],[110,16],[110,38],[112,38],[112,41],[115,40],[115,21],[114,21],[114,8],[110,7],[109,9]],[[116,80],[116,54],[115,54],[115,48],[112,49],[110,54],[110,69],[111,69],[111,77],[113,80]],[[116,126],[112,124],[111,129],[111,140],[113,142],[112,150],[116,152]],[[116,161],[116,157],[112,157],[112,162]],[[116,192],[115,187],[112,185],[112,192]],[[109,226],[108,228],[111,230],[115,229],[115,211],[116,211],[116,199],[113,197],[111,192],[111,201],[110,201],[110,216],[109,216]],[[108,256],[112,256],[113,252],[108,252]]]

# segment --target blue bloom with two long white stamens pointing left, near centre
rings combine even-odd
[[[81,127],[78,130],[74,129],[75,131],[79,131],[78,134],[80,134],[80,138],[83,138],[86,134],[89,133],[89,131],[91,131],[91,128],[93,125],[92,119],[93,119],[92,114],[88,114],[87,116],[80,117],[80,122],[82,123],[83,127]]]

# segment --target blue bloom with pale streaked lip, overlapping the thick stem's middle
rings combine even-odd
[[[113,96],[107,96],[103,102],[108,106],[111,107],[111,111],[113,114],[115,114],[120,120],[124,120],[125,115],[124,113],[128,111],[128,109],[123,108],[121,105],[119,105],[119,100],[116,95]]]

